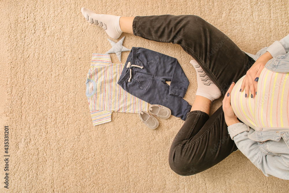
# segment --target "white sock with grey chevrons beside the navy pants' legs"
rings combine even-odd
[[[211,101],[220,98],[222,94],[221,90],[214,84],[196,60],[191,60],[190,63],[197,73],[198,89],[196,95],[203,96]]]

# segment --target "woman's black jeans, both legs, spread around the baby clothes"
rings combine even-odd
[[[223,95],[255,62],[223,32],[195,15],[136,16],[133,32],[149,40],[179,44]],[[210,117],[191,111],[171,144],[168,162],[174,172],[188,176],[216,165],[237,149],[222,106]]]

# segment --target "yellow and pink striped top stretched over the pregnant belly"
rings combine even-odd
[[[289,73],[264,68],[257,84],[257,95],[245,98],[240,92],[243,76],[231,92],[231,106],[236,116],[250,127],[289,127]]]

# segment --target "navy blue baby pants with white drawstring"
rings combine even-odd
[[[177,59],[171,56],[132,47],[117,83],[137,98],[168,107],[172,115],[182,120],[191,110],[192,106],[183,99],[190,82]]]

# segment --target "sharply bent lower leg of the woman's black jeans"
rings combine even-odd
[[[237,149],[222,106],[211,117],[191,111],[172,142],[168,161],[174,172],[189,176],[211,168]]]

